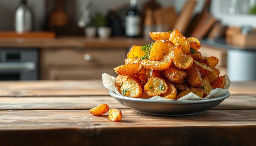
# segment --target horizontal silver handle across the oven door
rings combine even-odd
[[[0,72],[9,71],[33,71],[36,64],[33,62],[5,62],[0,63]]]

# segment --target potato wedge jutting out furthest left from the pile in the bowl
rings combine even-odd
[[[134,64],[129,63],[129,64],[120,65],[114,68],[114,70],[116,73],[124,76],[138,74],[140,72],[140,63],[134,63]]]

